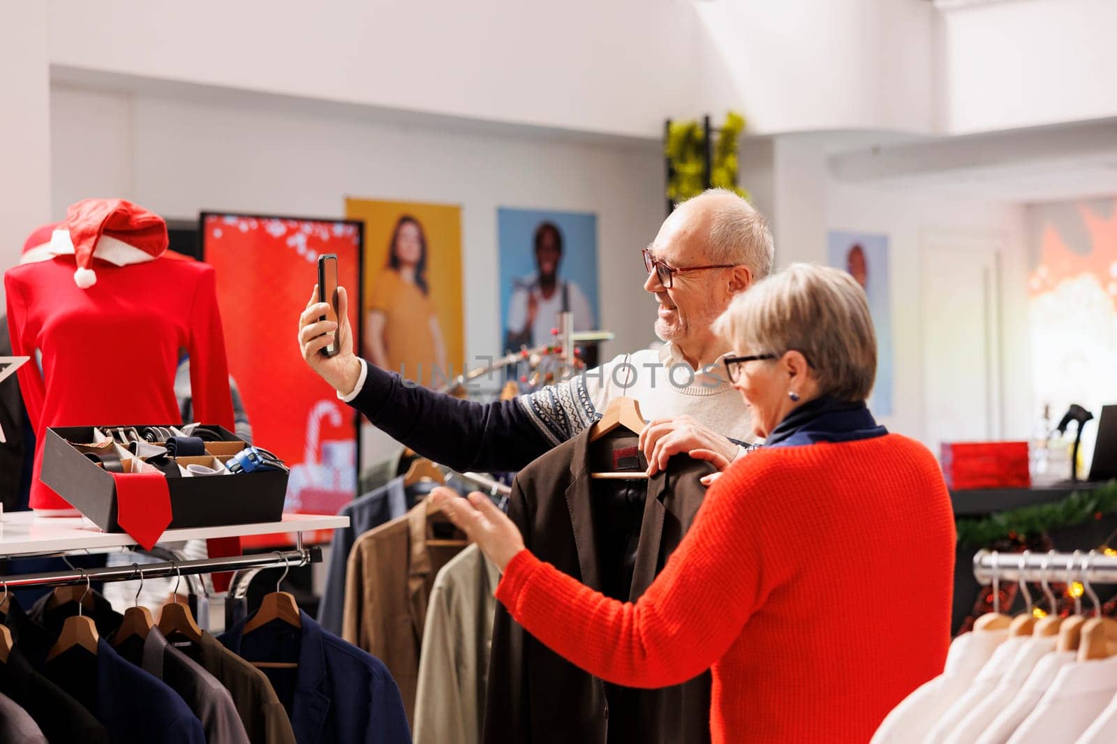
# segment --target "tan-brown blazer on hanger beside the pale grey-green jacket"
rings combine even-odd
[[[419,651],[436,574],[461,546],[428,545],[427,504],[370,530],[353,543],[345,574],[342,638],[388,667],[414,726]]]

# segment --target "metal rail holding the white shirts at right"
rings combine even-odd
[[[1073,553],[997,553],[977,551],[974,555],[977,583],[999,581],[1085,581],[1091,584],[1117,584],[1117,556],[1096,551]]]

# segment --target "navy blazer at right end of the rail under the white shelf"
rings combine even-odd
[[[241,621],[219,639],[248,661],[298,662],[262,670],[298,744],[410,744],[403,699],[388,667],[298,614],[302,629],[277,620],[245,636]]]

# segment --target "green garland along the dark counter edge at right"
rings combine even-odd
[[[987,546],[999,540],[1023,540],[1052,530],[1100,519],[1117,511],[1117,480],[1092,490],[1076,490],[1059,502],[1023,506],[981,519],[956,521],[958,545]]]

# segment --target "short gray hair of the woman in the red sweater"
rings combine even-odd
[[[863,401],[877,376],[865,289],[841,269],[792,264],[733,298],[714,332],[738,354],[798,351],[823,395]]]

